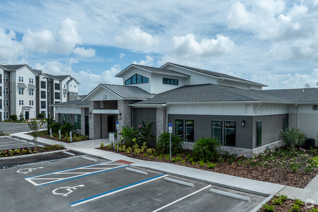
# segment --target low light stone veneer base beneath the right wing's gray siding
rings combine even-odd
[[[182,147],[183,149],[193,149],[194,142],[185,142],[183,141]],[[283,141],[276,141],[271,144],[258,147],[256,149],[244,149],[244,148],[237,148],[237,147],[230,147],[230,146],[221,146],[221,148],[232,155],[241,155],[244,154],[246,157],[251,158],[253,154],[258,154],[260,152],[264,152],[265,149],[268,147],[269,149],[275,149],[277,146],[284,146],[285,143]]]

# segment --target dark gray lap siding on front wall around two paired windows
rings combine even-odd
[[[251,116],[206,116],[206,115],[183,115],[168,114],[168,122],[172,123],[172,133],[175,134],[176,119],[194,120],[194,140],[198,141],[201,137],[211,136],[212,120],[223,121],[222,125],[222,144],[224,144],[224,121],[236,122],[236,146],[238,148],[252,148],[252,117]],[[245,126],[242,127],[242,121]],[[183,122],[184,123],[184,122]]]

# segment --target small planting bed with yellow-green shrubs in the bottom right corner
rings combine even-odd
[[[285,195],[277,195],[257,212],[318,212],[318,205],[304,203],[299,199],[287,199]]]

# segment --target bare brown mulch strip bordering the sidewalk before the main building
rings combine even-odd
[[[114,149],[107,150],[106,147],[98,148],[98,149],[111,151],[111,152],[117,152]],[[149,155],[147,157],[143,157],[144,153],[141,153],[138,156],[134,155],[134,153],[130,153],[130,154],[127,154],[126,152],[118,152],[118,153],[131,157],[131,158],[136,158],[136,159],[145,160],[145,161],[156,161],[156,162],[164,162],[169,164],[183,165],[183,166],[187,166],[191,168],[203,169],[206,171],[213,171],[213,172],[217,172],[221,174],[227,174],[227,175],[232,175],[237,177],[248,178],[252,180],[259,180],[259,181],[264,181],[269,183],[292,186],[296,188],[305,188],[308,185],[308,183],[318,174],[318,167],[315,168],[310,173],[305,173],[303,171],[293,172],[290,169],[278,168],[278,167],[266,168],[263,166],[258,166],[258,167],[251,167],[248,165],[244,166],[244,165],[239,165],[236,162],[234,162],[231,165],[229,165],[228,163],[217,164],[214,168],[208,168],[205,165],[204,166],[192,165],[192,163],[189,163],[187,160],[185,160],[185,163],[180,163],[180,161],[179,162],[172,162],[169,160],[167,161],[164,158],[159,160],[157,159],[158,156],[155,156],[154,159],[151,159]],[[182,159],[185,159],[188,153],[189,151],[184,151],[185,156],[182,156]]]

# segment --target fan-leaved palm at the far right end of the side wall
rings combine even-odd
[[[282,140],[286,143],[286,145],[291,148],[295,148],[296,145],[302,146],[305,143],[306,135],[299,128],[287,127],[285,132],[280,130],[280,134],[282,135]]]

